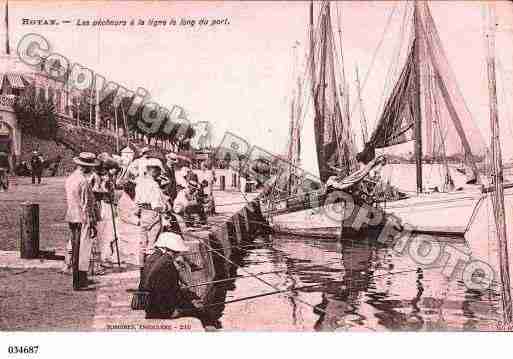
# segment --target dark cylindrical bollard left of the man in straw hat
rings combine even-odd
[[[20,257],[39,257],[39,204],[22,203],[20,215]]]

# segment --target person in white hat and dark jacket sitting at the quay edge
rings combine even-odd
[[[189,248],[175,233],[162,233],[141,272],[139,290],[147,292],[146,319],[169,319],[181,302],[178,266]]]

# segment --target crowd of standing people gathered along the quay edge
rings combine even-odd
[[[89,285],[89,273],[104,274],[119,262],[144,273],[148,258],[183,251],[182,233],[204,227],[214,213],[216,177],[207,164],[195,173],[175,153],[164,159],[148,147],[132,161],[88,152],[73,161],[77,168],[65,182],[71,236],[64,271],[75,290]]]

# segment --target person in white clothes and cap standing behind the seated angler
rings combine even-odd
[[[153,247],[160,233],[161,214],[169,209],[169,202],[160,189],[157,178],[161,175],[160,161],[151,158],[146,163],[146,174],[139,177],[135,186],[135,203],[140,208],[140,265],[144,264],[147,250]]]

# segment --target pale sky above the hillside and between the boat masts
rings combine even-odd
[[[469,110],[488,142],[483,3],[434,1],[429,5]],[[513,5],[495,2],[495,6],[503,151],[505,158],[512,158]],[[143,87],[156,102],[168,108],[180,105],[192,122],[209,121],[214,127],[214,144],[225,131],[231,131],[253,145],[283,152],[288,139],[294,68],[301,71],[308,43],[308,2],[11,1],[9,7],[12,47],[27,33],[41,34],[53,51],[71,62],[88,66],[127,88]],[[403,1],[343,1],[332,5],[340,15],[345,70],[353,103],[356,65],[361,78],[371,69],[362,92],[370,130],[381,111],[385,77],[398,43],[404,7]],[[198,21],[202,17],[228,19],[229,24],[77,25],[78,21],[98,18],[147,22],[170,18]],[[22,25],[23,18],[71,23],[30,26]],[[388,19],[391,25],[374,56]],[[294,55],[296,42],[299,47]],[[296,62],[298,66],[294,66]],[[502,100],[504,94],[507,101]],[[354,112],[352,123],[359,138],[359,109]],[[311,131],[312,118],[307,116],[303,135],[311,137]],[[313,158],[313,149],[310,152]]]

